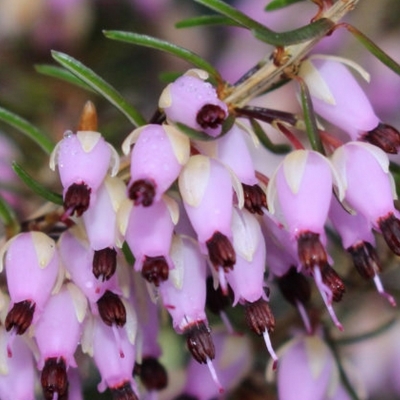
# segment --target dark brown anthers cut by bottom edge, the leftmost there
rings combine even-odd
[[[46,400],[67,398],[67,367],[63,358],[51,357],[45,361],[40,376],[43,395]]]

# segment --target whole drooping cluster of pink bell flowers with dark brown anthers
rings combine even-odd
[[[290,57],[281,50],[274,68]],[[1,399],[34,399],[36,371],[46,400],[72,398],[83,362],[97,367],[98,390],[115,400],[157,398],[169,383],[159,343],[169,314],[191,355],[171,396],[210,400],[250,364],[231,308],[265,342],[281,399],[350,398],[325,333],[331,322],[310,302],[316,289],[314,304],[344,329],[334,306],[346,291],[335,262],[341,251],[396,305],[380,278],[376,237],[400,255],[388,156],[400,133],[375,114],[353,63],[314,55],[293,64],[281,79],[300,83],[297,96],[311,111],[243,104],[239,87],[253,90],[257,68],[236,85],[190,69],[162,91],[149,123],[125,138],[123,155],[98,132],[87,103],[77,130],[50,156],[63,187],[56,221],[27,224],[0,250]],[[278,162],[265,123],[288,144]],[[304,328],[275,352],[279,292]],[[210,313],[221,327],[211,329]]]

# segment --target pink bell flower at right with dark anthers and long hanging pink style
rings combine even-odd
[[[343,283],[329,267],[324,246],[334,183],[341,196],[342,185],[328,159],[315,151],[296,150],[278,166],[267,195],[271,213],[286,227],[289,238],[296,240],[300,264],[313,276],[333,321],[341,329],[331,302],[341,297]]]

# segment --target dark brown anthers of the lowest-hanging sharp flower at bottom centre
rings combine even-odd
[[[206,364],[207,359],[213,360],[215,358],[215,348],[210,329],[204,321],[197,321],[189,325],[184,334],[188,349],[197,362]]]

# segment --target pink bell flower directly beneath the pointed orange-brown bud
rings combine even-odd
[[[66,216],[74,212],[80,216],[89,208],[110,166],[112,176],[118,172],[119,156],[99,132],[66,131],[51,154],[50,168],[54,171],[56,165]]]

